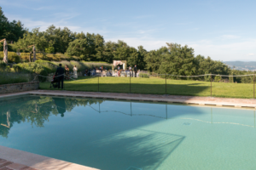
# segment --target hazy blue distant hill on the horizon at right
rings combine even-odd
[[[235,66],[236,70],[240,71],[256,71],[256,61],[224,61],[231,69]]]

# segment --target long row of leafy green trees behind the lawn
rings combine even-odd
[[[3,15],[3,11],[0,10],[0,12],[2,19],[0,24],[8,23],[9,21]],[[17,25],[21,26],[21,23]],[[5,28],[7,27],[4,27],[4,29]],[[20,35],[20,38],[18,37],[19,40],[16,38],[15,41],[18,41],[11,46],[12,49],[10,50],[24,48],[21,52],[32,52],[32,47],[27,47],[34,44],[37,49],[37,59],[55,62],[66,60],[67,64],[71,67],[73,66],[73,64],[69,62],[71,60],[104,61],[112,63],[113,60],[116,59],[126,60],[127,66],[134,67],[134,65],[137,65],[137,69],[139,70],[146,69],[161,74],[179,76],[203,75],[205,73],[230,74],[230,67],[228,65],[225,65],[221,61],[214,61],[210,57],[205,58],[201,55],[195,56],[194,49],[189,48],[187,45],[182,46],[177,43],[166,43],[166,47],[147,51],[143,46],[133,48],[126,42],[120,40],[118,40],[118,42],[105,42],[103,36],[100,34],[72,32],[67,27],[62,29],[52,25],[49,26],[46,31],[39,31],[39,28],[27,31],[23,29],[23,26],[19,28],[21,29],[19,32],[22,32],[22,34],[16,34]],[[25,62],[29,59],[29,53],[21,53],[20,56]],[[79,70],[84,70],[84,65],[81,63],[78,65]],[[209,77],[194,77],[193,79],[209,81]],[[234,81],[248,82],[251,80],[242,77]]]

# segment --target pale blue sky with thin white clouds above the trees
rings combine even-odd
[[[154,50],[176,42],[215,60],[256,61],[255,0],[0,0],[30,31],[67,26]]]

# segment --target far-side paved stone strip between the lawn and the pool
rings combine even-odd
[[[102,92],[79,92],[66,90],[32,90],[14,94],[0,94],[0,99],[24,94],[81,97],[97,99],[124,99],[137,101],[166,102],[173,104],[186,105],[208,105],[208,106],[228,106],[236,108],[256,109],[256,99],[235,99],[235,98],[217,98],[217,97],[198,97],[198,96],[180,96],[180,95],[159,95],[159,94],[119,94]]]

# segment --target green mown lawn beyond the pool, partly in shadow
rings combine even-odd
[[[76,81],[64,82],[65,90],[98,92],[130,93],[129,77],[81,77]],[[40,89],[49,88],[50,82],[41,82]],[[189,96],[211,96],[211,82],[167,80],[150,78],[131,78],[133,94],[174,94]],[[253,99],[253,84],[212,82],[212,97]]]

